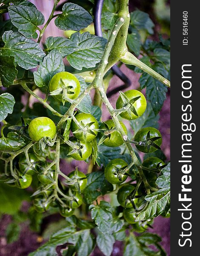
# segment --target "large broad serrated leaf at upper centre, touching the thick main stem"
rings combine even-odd
[[[83,67],[95,67],[100,62],[106,45],[105,38],[89,32],[76,32],[71,35],[70,40],[77,44],[76,50],[67,56],[72,67],[82,70]]]

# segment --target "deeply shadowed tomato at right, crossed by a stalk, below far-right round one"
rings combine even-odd
[[[147,168],[155,169],[157,167],[158,163],[160,163],[160,166],[163,166],[165,164],[163,162],[163,160],[161,160],[158,157],[149,157],[143,161],[142,165]],[[152,187],[156,187],[157,185],[155,182],[157,180],[157,174],[155,172],[150,172],[147,170],[143,170],[143,172],[144,172],[144,175],[145,175],[147,181],[149,182],[149,185]]]

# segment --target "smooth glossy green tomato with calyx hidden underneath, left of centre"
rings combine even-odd
[[[56,126],[48,117],[37,117],[30,122],[28,131],[33,141],[39,141],[43,137],[53,139],[56,134]]]

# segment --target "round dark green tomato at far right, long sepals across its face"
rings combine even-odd
[[[150,135],[150,138],[148,137],[148,134]],[[160,145],[162,143],[162,136],[160,134],[160,131],[158,131],[154,127],[146,127],[146,128],[140,129],[137,132],[137,134],[135,134],[134,141],[136,141],[136,142],[143,142],[146,140],[150,141],[154,137],[160,137],[160,139],[152,141],[153,144],[156,144],[158,147],[160,147]],[[157,148],[154,147],[153,144],[151,144],[151,145],[136,145],[136,148],[144,153],[152,153],[157,150]]]

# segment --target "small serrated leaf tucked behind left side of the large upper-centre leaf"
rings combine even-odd
[[[77,44],[70,41],[67,38],[63,38],[61,36],[53,37],[50,36],[46,38],[46,51],[50,52],[53,49],[56,49],[62,58],[66,57],[67,55],[71,54],[76,50]]]

